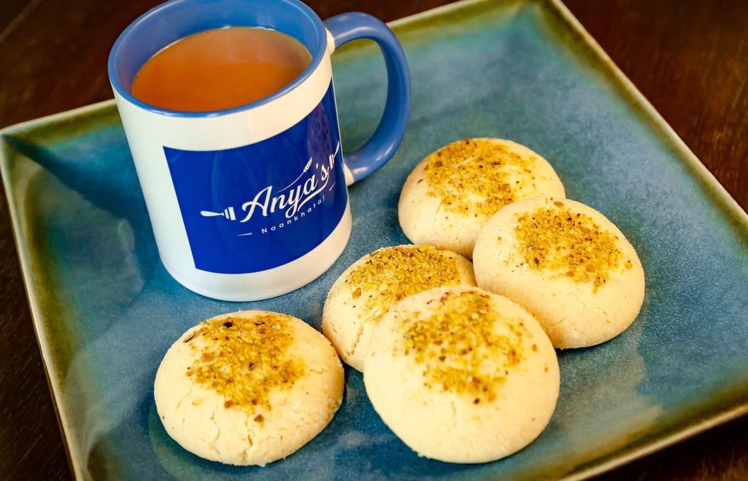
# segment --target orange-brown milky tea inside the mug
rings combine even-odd
[[[191,34],[157,52],[132,82],[136,99],[176,111],[215,111],[263,99],[311,62],[280,31],[233,26]]]

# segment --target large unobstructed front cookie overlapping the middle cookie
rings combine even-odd
[[[537,438],[560,376],[533,316],[503,296],[459,286],[411,295],[382,317],[364,385],[384,423],[420,456],[478,463]]]

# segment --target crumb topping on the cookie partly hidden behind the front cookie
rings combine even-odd
[[[408,295],[461,284],[456,260],[441,254],[442,250],[430,245],[406,245],[369,254],[346,281],[356,286],[351,297],[356,300],[364,295],[361,302],[367,311],[379,317]]]

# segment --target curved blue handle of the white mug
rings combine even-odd
[[[390,160],[402,141],[411,111],[411,76],[402,46],[380,19],[368,13],[349,12],[322,23],[328,30],[330,53],[343,43],[366,38],[378,43],[387,66],[387,101],[379,125],[366,144],[343,156],[346,185],[350,186]]]

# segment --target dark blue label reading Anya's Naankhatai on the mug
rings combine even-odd
[[[244,274],[307,254],[348,203],[332,84],[295,126],[228,150],[164,147],[197,269]]]

